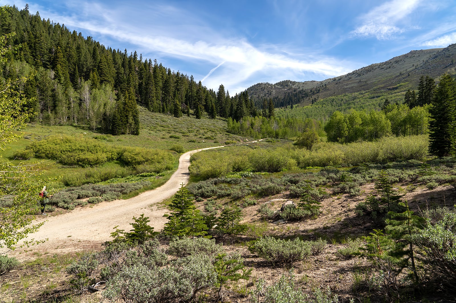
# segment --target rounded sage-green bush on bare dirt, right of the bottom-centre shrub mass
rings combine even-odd
[[[256,241],[250,249],[274,266],[283,267],[290,267],[293,263],[304,260],[311,253],[310,243],[298,238],[287,241],[264,237]]]

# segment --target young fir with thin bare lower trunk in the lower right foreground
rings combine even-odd
[[[420,281],[415,266],[413,235],[423,228],[424,219],[410,211],[407,201],[400,204],[406,210],[401,213],[389,212],[390,219],[386,220],[386,231],[389,237],[394,240],[394,246],[389,254],[398,260],[397,264],[400,270],[403,268],[410,269],[415,283],[418,284]]]

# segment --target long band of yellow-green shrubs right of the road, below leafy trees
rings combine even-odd
[[[294,168],[423,160],[427,156],[427,146],[427,136],[421,135],[383,137],[375,142],[349,144],[320,142],[311,150],[289,146],[274,151],[268,149],[242,150],[242,152],[205,151],[192,156],[190,173],[202,179],[208,179],[241,171],[281,172]]]

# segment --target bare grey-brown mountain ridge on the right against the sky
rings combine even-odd
[[[454,73],[455,59],[456,44],[445,48],[412,50],[388,61],[373,63],[323,81],[257,83],[247,88],[247,91],[257,105],[264,98],[272,98],[276,107],[308,105],[329,96],[361,91],[406,91],[418,86],[420,76],[428,75],[436,79],[445,72]]]

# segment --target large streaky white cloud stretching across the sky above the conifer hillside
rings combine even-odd
[[[141,22],[143,17],[136,16],[135,23],[124,22],[128,18],[125,15],[130,14],[127,8],[108,8],[88,2],[79,2],[78,6],[81,14],[78,11],[73,11],[73,15],[50,14],[68,28],[76,27],[94,36],[108,36],[136,45],[143,57],[160,53],[162,57],[198,64],[200,70],[206,67],[199,77],[203,85],[213,89],[223,83],[230,91],[237,92],[256,83],[257,77],[271,82],[310,80],[304,78],[306,75],[324,79],[353,69],[348,67],[350,63],[332,57],[290,55],[284,45],[252,45],[242,37],[226,38],[197,17],[169,6],[156,5],[153,18],[146,13],[147,22]],[[177,15],[180,20],[175,26],[172,26],[173,20],[168,20],[169,26],[165,26],[161,22],[163,15]],[[214,65],[218,66],[212,68]],[[181,66],[176,67],[182,70]],[[192,73],[197,80],[197,73]]]

